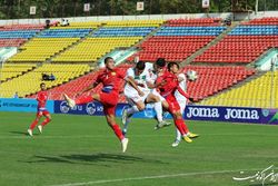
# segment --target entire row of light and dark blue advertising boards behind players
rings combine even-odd
[[[37,111],[37,100],[34,99],[0,99],[0,111]],[[118,104],[116,116],[120,117],[122,110],[129,107],[127,104]],[[87,105],[76,106],[70,109],[66,101],[48,100],[47,109],[56,114],[91,115],[103,116],[103,107],[100,102],[89,102]],[[143,111],[136,114],[135,118],[153,118],[155,111],[152,105],[147,105]],[[183,114],[185,119],[189,120],[209,120],[228,123],[248,123],[248,124],[268,124],[278,125],[278,109],[261,109],[247,107],[211,107],[211,106],[187,106]],[[166,118],[170,119],[168,114]]]

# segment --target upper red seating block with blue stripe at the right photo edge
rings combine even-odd
[[[195,62],[250,63],[270,48],[278,47],[278,19],[251,20],[236,27]]]

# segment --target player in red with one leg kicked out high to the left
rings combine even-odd
[[[101,92],[99,94],[95,92],[89,96],[83,95],[75,100],[70,99],[67,95],[63,96],[66,101],[71,108],[73,108],[76,105],[87,104],[93,100],[101,102],[103,105],[103,111],[106,115],[107,123],[113,129],[116,136],[120,139],[122,153],[125,153],[128,146],[128,138],[126,138],[122,135],[122,131],[115,119],[115,111],[119,100],[121,80],[126,80],[128,84],[130,84],[138,91],[140,96],[143,96],[143,92],[137,87],[137,85],[135,84],[135,81],[132,81],[132,79],[126,77],[126,74],[121,72],[118,68],[115,67],[115,61],[111,57],[107,57],[105,59],[105,65],[106,69],[97,77],[95,84],[83,89],[82,91],[78,92],[77,96],[80,96],[83,92],[93,89],[100,82],[102,82],[103,85]]]

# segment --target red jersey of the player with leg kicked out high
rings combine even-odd
[[[119,92],[121,87],[121,80],[125,79],[125,77],[126,74],[119,68],[115,68],[113,70],[105,69],[102,72],[99,74],[96,82],[103,84],[102,91],[105,92]]]

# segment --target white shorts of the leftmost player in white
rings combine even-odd
[[[130,91],[130,90],[123,90],[123,94],[127,98],[128,104],[130,104],[131,106],[135,105],[135,102],[139,102],[142,101],[145,102],[146,98],[149,96],[150,90],[149,89],[141,89],[141,91],[143,92],[143,96],[139,96],[137,90]]]

